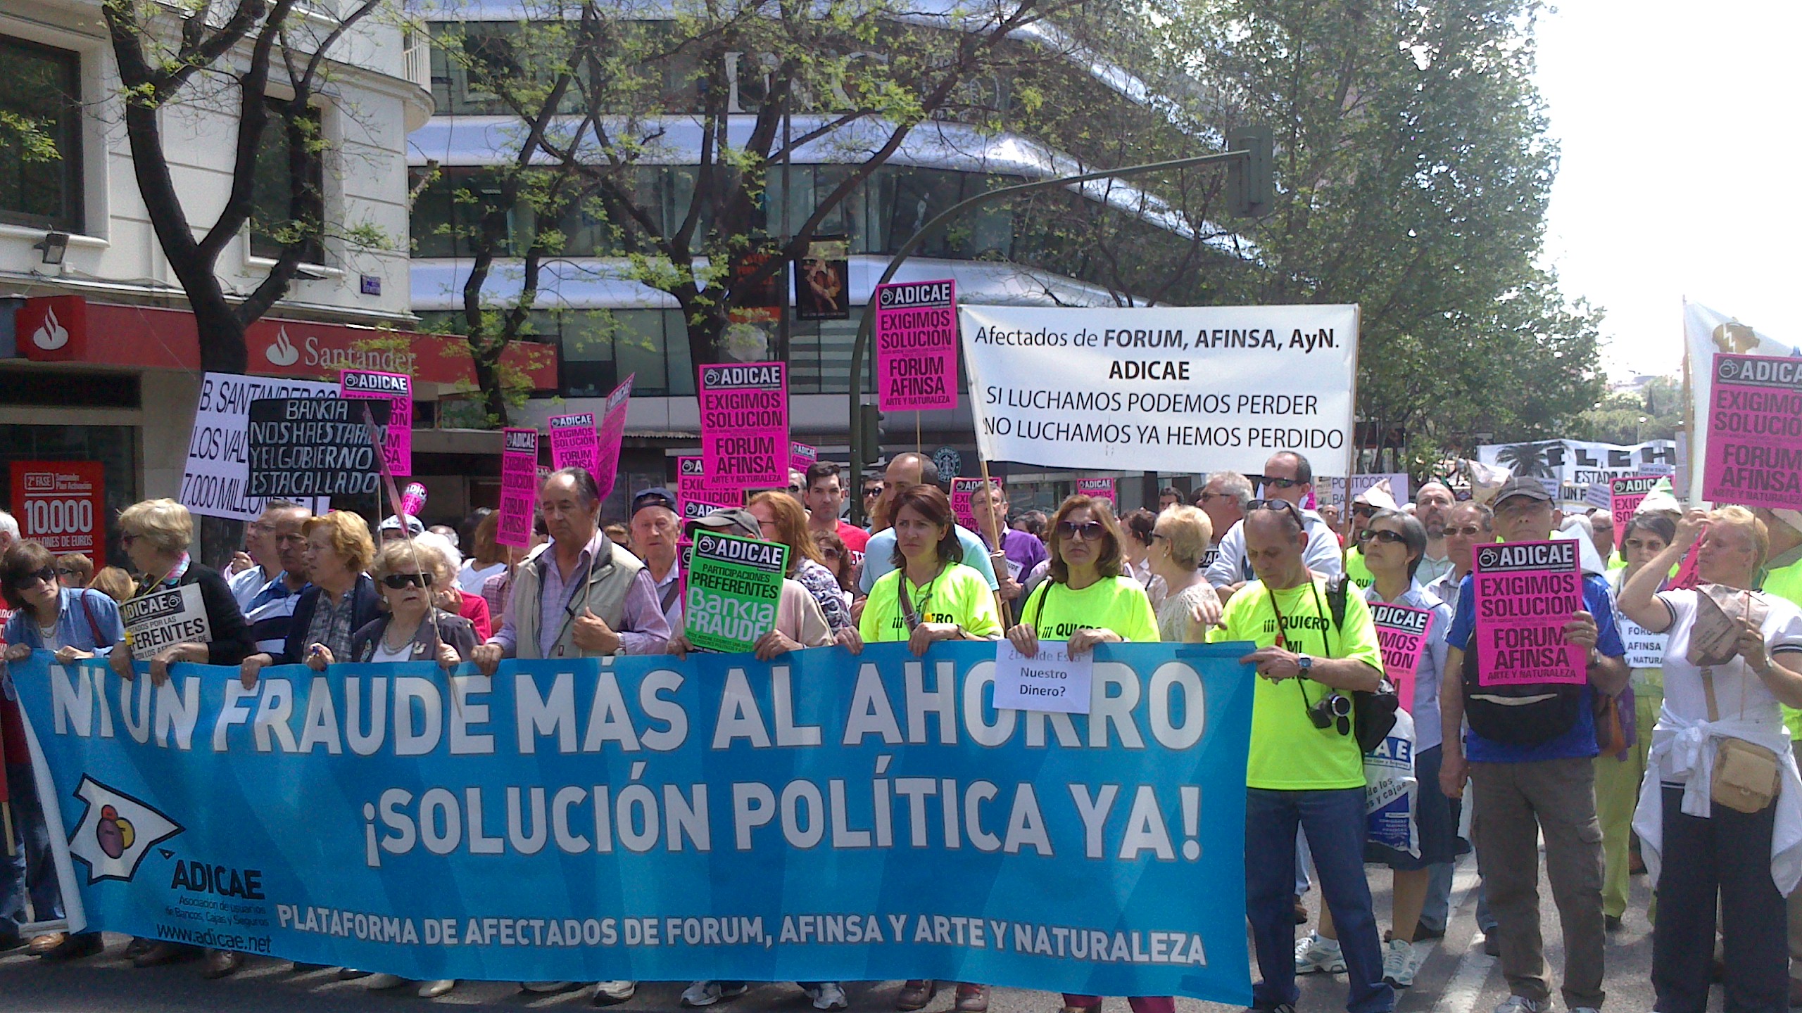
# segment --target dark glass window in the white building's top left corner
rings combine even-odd
[[[79,233],[81,58],[0,36],[0,222]]]

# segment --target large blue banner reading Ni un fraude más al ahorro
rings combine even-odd
[[[92,926],[411,979],[1243,1004],[1243,651],[1103,645],[1090,716],[995,710],[977,643],[11,672]]]

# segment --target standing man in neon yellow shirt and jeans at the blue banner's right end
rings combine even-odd
[[[1382,943],[1364,878],[1364,755],[1352,692],[1382,681],[1382,651],[1362,595],[1346,595],[1333,620],[1326,580],[1308,573],[1301,514],[1285,501],[1252,501],[1245,557],[1256,580],[1227,602],[1215,642],[1249,640],[1258,651],[1251,755],[1245,764],[1245,914],[1263,981],[1254,1009],[1294,1006],[1296,827],[1321,876],[1339,930],[1333,968],[1348,973],[1350,1009],[1395,1009],[1382,979]]]

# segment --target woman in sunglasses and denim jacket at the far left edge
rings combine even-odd
[[[56,557],[34,541],[13,543],[0,555],[0,595],[13,607],[5,622],[5,660],[23,662],[32,651],[54,651],[68,665],[112,651],[124,636],[119,606],[99,591],[65,588],[56,580]],[[63,892],[50,860],[50,827],[38,800],[31,773],[23,723],[13,703],[13,674],[0,672],[0,707],[5,714],[5,782],[13,789],[13,824],[22,849],[0,854],[0,934],[11,932],[11,919],[23,921],[25,896],[31,896],[38,921],[63,917]],[[14,945],[18,937],[11,939]],[[99,932],[68,935],[50,932],[31,941],[31,954],[45,961],[72,961],[101,952]]]

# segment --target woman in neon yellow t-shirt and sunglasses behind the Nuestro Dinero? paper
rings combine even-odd
[[[1040,640],[1069,640],[1070,654],[1096,643],[1157,642],[1151,600],[1124,575],[1114,512],[1099,499],[1070,496],[1051,530],[1051,579],[1027,598],[1007,640],[1025,656],[1038,654]]]

